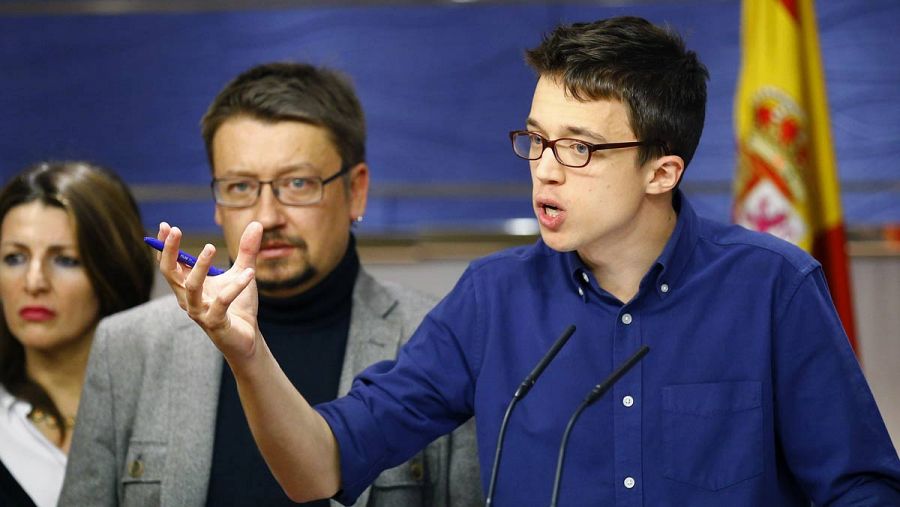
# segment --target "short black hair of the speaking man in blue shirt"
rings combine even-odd
[[[709,72],[674,31],[631,16],[560,25],[526,60],[578,100],[624,103],[637,138],[661,143],[642,146],[640,164],[673,154],[687,167],[694,156]]]

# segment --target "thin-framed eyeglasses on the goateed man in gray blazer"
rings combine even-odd
[[[246,208],[256,204],[264,185],[272,186],[278,202],[287,206],[308,206],[322,200],[325,185],[347,174],[349,166],[322,179],[318,176],[287,175],[272,180],[255,178],[215,178],[211,186],[216,203],[227,208]]]

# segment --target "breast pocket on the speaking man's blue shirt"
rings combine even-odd
[[[662,406],[667,478],[718,491],[762,473],[760,382],[666,386]]]

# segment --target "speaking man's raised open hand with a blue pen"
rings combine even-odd
[[[164,247],[159,255],[159,269],[178,304],[203,328],[232,366],[250,359],[262,339],[256,320],[259,299],[254,280],[262,225],[247,225],[234,265],[214,277],[207,277],[206,273],[215,247],[204,246],[192,269],[177,262],[181,237],[177,227],[160,224],[157,238]]]

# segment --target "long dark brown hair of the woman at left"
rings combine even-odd
[[[0,223],[18,206],[40,202],[64,210],[75,227],[78,255],[106,317],[150,299],[155,261],[141,238],[134,197],[118,176],[87,162],[43,162],[0,191]],[[25,372],[25,350],[0,312],[0,383],[14,396],[65,425],[47,392]]]

